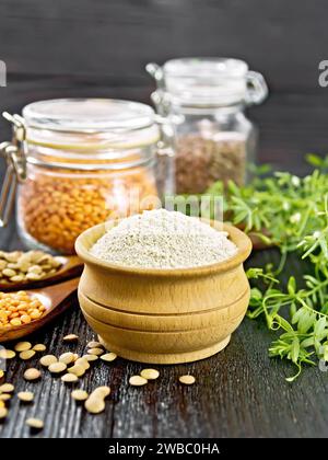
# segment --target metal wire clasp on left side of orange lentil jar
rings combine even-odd
[[[13,208],[17,182],[26,179],[26,128],[20,115],[10,115],[7,112],[2,115],[13,128],[12,141],[0,143],[0,154],[7,162],[0,194],[0,227],[5,227]]]

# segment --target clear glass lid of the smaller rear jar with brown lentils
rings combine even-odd
[[[147,69],[178,104],[260,103],[268,93],[262,76],[241,59],[181,58],[168,60],[162,68],[151,64]]]

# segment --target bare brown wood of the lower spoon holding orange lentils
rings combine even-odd
[[[73,278],[43,289],[27,290],[30,296],[35,296],[43,302],[46,311],[38,320],[32,321],[30,324],[0,327],[0,343],[14,341],[32,334],[67,310],[71,306],[71,302],[65,300],[77,290],[79,281],[80,278]]]

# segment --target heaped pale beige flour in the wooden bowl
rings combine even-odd
[[[189,268],[232,257],[236,245],[227,233],[198,218],[154,209],[128,217],[106,232],[91,249],[116,265],[143,268]]]

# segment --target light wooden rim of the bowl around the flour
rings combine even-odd
[[[101,229],[104,230],[104,233],[106,231],[106,223],[98,223],[96,226],[93,226],[89,228],[87,230],[84,230],[77,239],[75,241],[75,251],[78,255],[82,258],[82,261],[86,265],[94,265],[98,268],[105,268],[108,272],[116,272],[116,273],[122,273],[122,274],[130,274],[136,276],[194,276],[194,275],[208,275],[211,273],[220,273],[220,272],[229,272],[238,265],[243,264],[243,262],[246,261],[246,258],[249,256],[253,243],[249,237],[239,230],[238,228],[230,225],[224,223],[223,225],[223,231],[226,231],[229,233],[229,237],[233,243],[236,244],[238,252],[221,262],[216,262],[215,264],[209,264],[209,265],[202,265],[202,266],[196,266],[196,267],[189,267],[189,268],[147,268],[147,267],[129,267],[129,266],[122,266],[122,265],[116,265],[112,264],[110,262],[103,261],[101,258],[95,257],[92,255],[89,251],[89,248],[85,245],[85,239],[93,235],[95,232],[98,232]],[[209,221],[208,221],[209,223]],[[213,220],[210,221],[210,225],[212,226],[214,223]],[[215,222],[218,223],[218,221]]]

